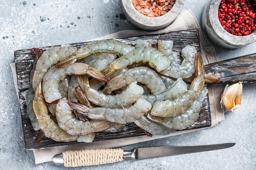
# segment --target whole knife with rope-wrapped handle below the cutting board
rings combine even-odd
[[[154,146],[145,148],[134,148],[132,150],[122,149],[85,149],[68,150],[62,154],[55,155],[52,159],[57,165],[65,167],[90,166],[105,163],[123,161],[127,158],[134,160],[154,157],[165,157],[181,155],[209,150],[218,150],[234,146],[235,143],[202,145],[202,146]]]

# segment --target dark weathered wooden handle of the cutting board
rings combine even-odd
[[[220,78],[220,82],[256,82],[256,53],[204,66],[206,75]]]

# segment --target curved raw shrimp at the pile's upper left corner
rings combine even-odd
[[[42,56],[36,63],[32,83],[33,88],[36,89],[38,82],[43,79],[49,68],[69,57],[72,53],[74,53],[74,51],[76,51],[76,47],[74,46],[55,46],[43,52]]]

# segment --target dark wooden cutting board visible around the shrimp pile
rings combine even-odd
[[[184,31],[176,31],[171,33],[163,33],[157,35],[145,35],[145,36],[138,36],[138,37],[131,37],[125,39],[117,39],[122,42],[126,42],[127,44],[135,45],[137,39],[146,39],[150,40],[157,44],[157,40],[173,40],[173,52],[175,55],[180,56],[181,50],[186,45],[193,45],[196,47],[197,51],[200,51],[200,39],[198,29],[192,30],[184,30]],[[78,49],[89,44],[90,42],[82,42],[76,44],[70,44],[71,46],[76,46]],[[47,47],[40,47],[43,51],[52,48],[53,46]],[[31,47],[33,48],[33,47]],[[34,148],[44,148],[44,147],[51,147],[51,146],[60,146],[60,145],[68,145],[68,144],[75,144],[74,142],[56,142],[52,139],[45,137],[42,141],[38,144],[34,143],[36,135],[38,131],[34,131],[31,122],[29,120],[27,114],[27,106],[25,101],[25,93],[29,88],[29,74],[32,68],[34,55],[31,53],[30,49],[24,50],[17,50],[14,52],[15,63],[16,63],[16,72],[17,72],[17,81],[18,81],[18,89],[19,97],[20,97],[20,110],[21,110],[21,118],[22,118],[22,128],[24,133],[25,145],[27,149],[34,149]],[[255,56],[254,56],[255,60]],[[255,61],[254,61],[255,63]],[[220,63],[219,63],[220,64]],[[206,73],[212,75],[218,75],[214,73],[214,70],[218,65],[211,64],[206,66]],[[220,66],[219,66],[220,67]],[[207,70],[208,69],[208,70]],[[208,72],[207,72],[208,71]],[[235,72],[233,72],[235,73]],[[230,73],[228,77],[232,74]],[[218,75],[219,76],[219,75]],[[234,76],[234,75],[233,75]],[[224,76],[225,77],[225,76]],[[225,79],[223,82],[228,82],[228,78]],[[196,119],[195,123],[186,128],[187,129],[194,129],[194,128],[204,128],[211,126],[211,112],[209,109],[209,98],[208,96],[203,102],[203,108],[200,111],[198,118]],[[134,123],[127,124],[124,128],[119,130],[118,132],[98,132],[94,138],[94,141],[107,141],[110,139],[120,139],[126,137],[136,137],[145,135],[144,130],[138,128]]]

